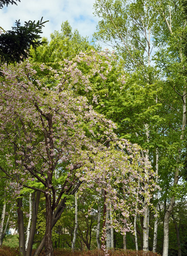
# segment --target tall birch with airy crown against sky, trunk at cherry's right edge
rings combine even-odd
[[[149,1],[98,0],[94,7],[95,14],[102,19],[98,23],[98,32],[95,33],[95,38],[116,48],[123,58],[124,68],[128,70],[139,69],[139,76],[143,77],[145,83],[151,85],[156,78],[153,68],[150,66],[153,58],[151,54],[155,45],[151,41],[153,9]],[[149,109],[149,106],[147,108]],[[149,149],[150,130],[146,119],[144,120],[143,136]],[[146,153],[146,157],[149,159],[149,152]],[[145,179],[149,184],[146,173]],[[146,201],[144,205],[143,250],[148,251],[149,207]]]

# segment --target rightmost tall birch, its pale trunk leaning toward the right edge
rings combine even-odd
[[[181,97],[181,107],[182,110],[182,119],[180,122],[180,129],[178,135],[178,153],[176,157],[176,167],[173,176],[173,186],[176,186],[180,178],[180,158],[182,143],[185,135],[186,127],[186,78],[184,75],[181,76],[179,72],[177,73],[174,69],[174,66],[181,67],[184,70],[184,55],[182,53],[182,33],[186,27],[186,19],[182,13],[182,6],[180,2],[176,4],[170,3],[169,1],[155,2],[155,11],[157,10],[160,15],[159,22],[157,25],[163,29],[163,37],[165,37],[166,51],[162,48],[160,42],[162,42],[162,37],[158,37],[158,34],[155,31],[155,38],[158,41],[160,47],[160,52],[158,53],[158,61],[160,61],[160,53],[166,53],[170,51],[170,64],[168,63],[165,67],[165,73],[168,79],[168,83],[171,85],[171,88],[175,91],[177,95]],[[173,39],[175,38],[175,41]],[[178,56],[175,59],[174,56]],[[175,60],[174,60],[175,59]],[[163,60],[163,58],[162,58]],[[163,63],[165,61],[163,60]],[[161,63],[160,63],[161,64]],[[162,66],[162,64],[161,64]],[[180,84],[180,86],[178,85]],[[175,204],[175,195],[173,194],[170,198],[169,204],[167,206],[165,219],[164,219],[164,245],[163,245],[163,256],[168,255],[168,245],[169,245],[169,218]]]

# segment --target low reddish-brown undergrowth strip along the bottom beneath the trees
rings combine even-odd
[[[34,251],[33,251],[34,252]],[[109,256],[159,256],[153,252],[143,252],[132,250],[108,250]],[[9,246],[2,246],[0,247],[0,255],[1,256],[17,256],[19,255],[18,248],[9,247]],[[40,256],[46,256],[45,252],[43,251]],[[56,249],[54,250],[54,256],[104,256],[104,252],[101,250],[91,250],[91,251],[76,251],[72,253],[70,250],[64,249]]]

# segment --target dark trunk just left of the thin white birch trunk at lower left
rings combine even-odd
[[[22,199],[17,199],[17,214],[18,214],[18,229],[19,229],[19,254],[21,256],[26,256],[25,251],[25,233],[24,233],[24,221],[23,221],[23,211],[22,211]]]

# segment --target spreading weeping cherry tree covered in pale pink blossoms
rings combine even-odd
[[[79,69],[80,63],[88,67],[87,75]],[[0,159],[0,169],[12,181],[15,191],[19,250],[23,256],[24,188],[44,193],[46,200],[46,232],[35,255],[44,244],[46,255],[53,255],[52,228],[68,195],[78,189],[81,192],[85,187],[95,187],[98,193],[104,189],[105,203],[110,205],[113,216],[111,225],[121,233],[132,228],[128,221],[124,228],[124,219],[128,220],[130,213],[143,213],[143,202],[136,196],[138,182],[141,198],[150,204],[155,184],[142,149],[118,138],[114,133],[116,125],[94,111],[85,96],[78,95],[80,88],[92,90],[96,73],[105,81],[111,67],[107,53],[94,51],[66,59],[57,69],[31,65],[29,61],[3,67],[0,149],[6,148],[6,153],[3,161]],[[149,173],[149,184],[143,178],[145,172]],[[27,250],[27,255],[31,255],[31,250]]]

